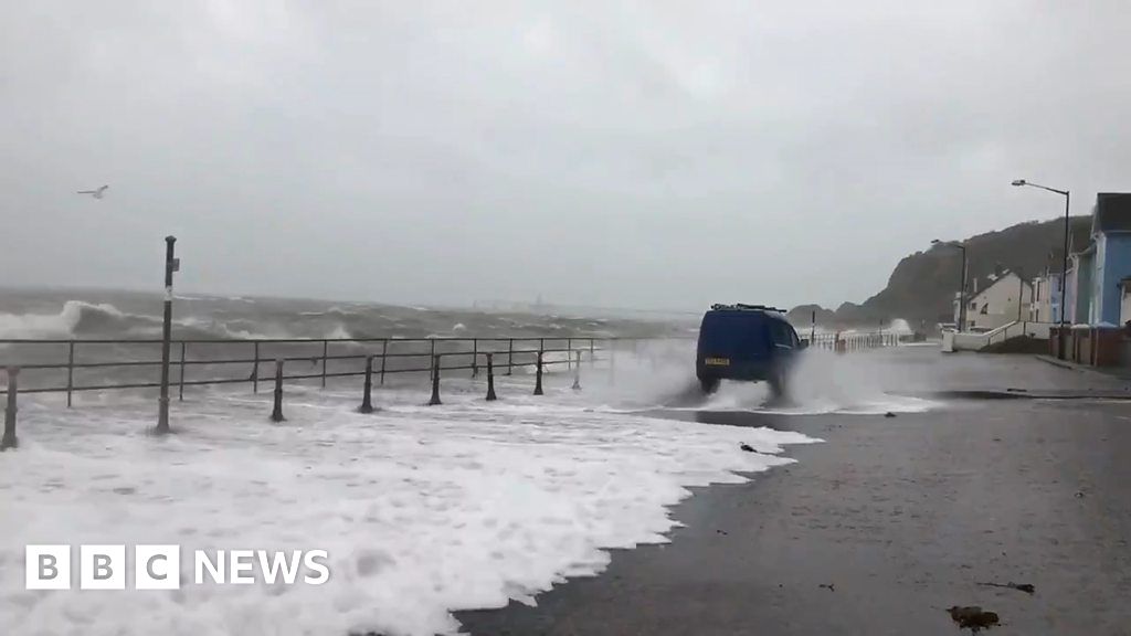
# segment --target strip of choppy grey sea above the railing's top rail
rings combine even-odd
[[[428,338],[661,337],[694,319],[653,320],[581,313],[536,315],[253,296],[176,295],[173,337]],[[0,340],[159,338],[161,293],[0,290]]]

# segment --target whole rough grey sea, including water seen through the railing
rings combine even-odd
[[[382,369],[411,381],[426,373],[432,354],[442,354],[442,368],[460,370],[485,363],[486,351],[497,363],[533,366],[543,349],[549,364],[562,364],[570,350],[597,356],[601,344],[586,338],[687,338],[696,324],[688,317],[668,320],[606,313],[489,311],[466,308],[403,307],[375,302],[308,299],[174,296],[172,381],[221,380],[252,383],[274,373],[274,361],[286,361],[288,377],[320,381],[361,373],[365,355],[389,356]],[[24,368],[20,390],[67,386],[76,390],[156,381],[161,360],[163,295],[104,290],[5,290],[0,292],[0,366]],[[323,338],[331,341],[326,345]],[[380,342],[387,338],[388,342]],[[470,340],[485,338],[473,343]],[[492,340],[498,338],[498,340]],[[523,338],[515,343],[507,338]],[[46,343],[16,340],[55,341]],[[300,342],[249,341],[297,340]],[[348,342],[373,341],[377,342]],[[9,342],[3,342],[9,341]],[[74,341],[75,345],[70,342]],[[102,342],[100,342],[102,341]],[[106,342],[121,341],[121,342]],[[201,341],[201,342],[195,342]],[[313,341],[313,342],[304,342]],[[434,341],[434,342],[433,342]],[[599,342],[599,341],[598,341]],[[516,353],[510,353],[511,351]],[[78,367],[36,368],[67,364]],[[323,360],[325,358],[325,360]],[[231,361],[231,362],[221,362]],[[109,362],[150,364],[97,367]],[[513,368],[508,366],[508,371]],[[415,373],[413,373],[415,372]],[[385,373],[382,373],[383,376]],[[382,377],[382,384],[385,378]]]

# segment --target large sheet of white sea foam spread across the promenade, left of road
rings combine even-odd
[[[446,379],[443,406],[420,406],[418,387],[379,392],[373,415],[354,412],[355,389],[287,387],[283,424],[268,423],[266,395],[201,389],[176,404],[179,433],[164,439],[145,435],[150,399],[21,402],[21,446],[0,462],[0,624],[88,636],[454,634],[454,610],[529,602],[601,571],[604,549],[667,541],[667,506],[687,487],[788,462],[740,442],[778,453],[813,441],[611,413],[599,406],[611,393],[564,386],[547,377],[534,398],[528,378],[500,378],[504,401],[489,404],[481,384]],[[331,578],[24,592],[24,545],[52,542],[326,549]]]

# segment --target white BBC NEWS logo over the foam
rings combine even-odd
[[[321,585],[330,578],[327,559],[326,550],[193,550],[191,581]],[[126,545],[79,545],[77,567],[71,565],[70,545],[27,545],[25,587],[70,590],[72,569],[78,571],[79,590],[126,590],[131,569],[135,590],[180,590],[182,584],[180,545],[135,545],[132,568]]]

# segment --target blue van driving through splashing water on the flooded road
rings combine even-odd
[[[722,380],[769,383],[775,397],[786,393],[789,364],[805,347],[783,316],[761,304],[713,304],[699,327],[696,376],[703,393]]]

